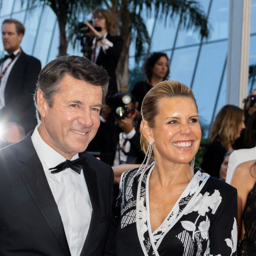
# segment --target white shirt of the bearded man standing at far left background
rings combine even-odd
[[[18,50],[16,50],[15,52],[13,52],[13,54],[17,55],[19,53],[19,50],[20,50],[20,48]],[[8,58],[0,66],[0,73],[2,74],[2,72],[5,70],[7,65],[9,65],[11,63],[11,65],[9,66],[9,68],[7,68],[4,76],[1,79],[1,84],[0,84],[0,109],[2,109],[5,106],[4,90],[5,90],[6,83],[7,83],[8,77],[10,75],[11,69],[12,69],[13,65],[15,64],[15,62],[18,60],[18,58],[19,58],[19,56],[17,56],[12,62],[11,62],[11,58]]]

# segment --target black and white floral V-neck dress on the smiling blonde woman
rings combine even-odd
[[[235,256],[237,190],[195,168],[195,176],[152,233],[148,184],[153,169],[154,163],[142,177],[138,169],[122,176],[117,255]]]

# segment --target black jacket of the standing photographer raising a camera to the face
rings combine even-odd
[[[113,43],[113,47],[109,47],[104,53],[102,48],[100,49],[96,64],[105,68],[110,77],[109,80],[109,95],[116,94],[117,91],[117,77],[116,69],[120,54],[123,50],[123,38],[121,36],[112,36],[109,33],[106,39]]]

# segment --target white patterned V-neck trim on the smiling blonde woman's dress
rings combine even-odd
[[[186,209],[189,209],[193,199],[197,197],[208,180],[208,177],[202,175],[198,170],[192,180],[188,183],[181,196],[170,210],[162,224],[152,233],[150,223],[150,210],[149,210],[149,178],[154,163],[143,172],[142,177],[139,179],[137,189],[137,203],[136,203],[136,226],[139,235],[139,241],[142,245],[143,252],[153,250],[154,255],[158,256],[158,246],[161,244],[162,239],[166,233],[173,228],[173,226],[186,214]],[[182,202],[184,201],[184,202]],[[147,249],[146,249],[147,248]],[[150,249],[151,248],[151,249]],[[147,255],[147,254],[146,254]]]

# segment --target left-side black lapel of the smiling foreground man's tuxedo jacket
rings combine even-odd
[[[41,214],[44,216],[45,221],[66,252],[65,254],[71,255],[60,213],[40,159],[38,158],[38,154],[31,141],[31,135],[32,132],[19,143],[17,158],[24,163],[24,165],[19,168],[19,173],[23,177],[23,181],[41,211]]]

